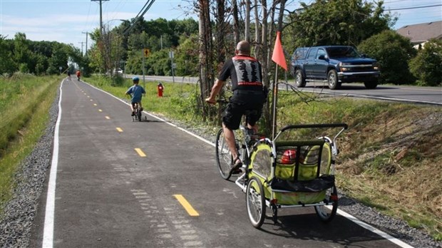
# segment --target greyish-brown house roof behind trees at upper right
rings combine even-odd
[[[411,43],[422,43],[431,38],[442,38],[442,21],[414,24],[396,30],[401,36],[410,38]]]

